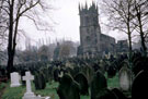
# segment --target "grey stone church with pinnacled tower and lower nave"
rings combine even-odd
[[[115,38],[101,33],[99,24],[99,9],[95,3],[90,8],[79,5],[80,15],[80,46],[78,55],[102,55],[103,53],[114,53]]]

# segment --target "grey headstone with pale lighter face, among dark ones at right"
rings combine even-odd
[[[126,64],[119,70],[118,78],[119,78],[119,87],[123,91],[128,91],[132,86],[132,72],[127,67]]]

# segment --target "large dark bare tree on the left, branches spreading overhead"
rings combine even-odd
[[[8,28],[8,74],[12,72],[13,60],[16,47],[16,37],[20,32],[19,22],[22,16],[26,16],[32,20],[36,27],[39,29],[38,25],[45,25],[37,22],[35,17],[39,18],[39,11],[46,11],[48,8],[45,5],[44,0],[1,0],[2,4],[0,7],[1,14],[4,15]],[[36,9],[37,8],[37,9]],[[39,18],[41,20],[41,18]]]

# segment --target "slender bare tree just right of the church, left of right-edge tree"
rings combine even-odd
[[[105,11],[109,15],[109,26],[113,29],[126,33],[128,36],[129,44],[129,62],[132,57],[132,33],[136,26],[132,24],[134,18],[130,13],[133,10],[134,0],[104,0]]]

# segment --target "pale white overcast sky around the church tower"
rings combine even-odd
[[[101,2],[101,0],[93,0],[93,1]],[[24,28],[26,36],[31,38],[32,45],[36,45],[36,41],[38,41],[38,39],[41,38],[44,39],[50,38],[50,41],[54,41],[56,38],[57,39],[65,38],[65,39],[71,39],[72,41],[79,41],[80,20],[79,20],[78,7],[79,3],[84,5],[86,2],[88,4],[91,4],[92,0],[52,0],[52,5],[54,10],[48,12],[50,18],[47,18],[47,21],[52,23],[55,32],[47,32],[46,34],[44,32],[37,32],[33,23],[30,21],[21,21],[22,23],[20,26]],[[102,8],[100,8],[100,5],[99,9],[101,12]],[[54,24],[53,21],[56,24]],[[100,15],[100,24],[103,34],[115,37],[117,40],[125,39],[124,36],[121,37],[121,35],[118,35],[116,32],[106,30],[106,28],[102,24],[105,22],[106,22],[105,15]],[[22,41],[24,39],[22,39]]]

